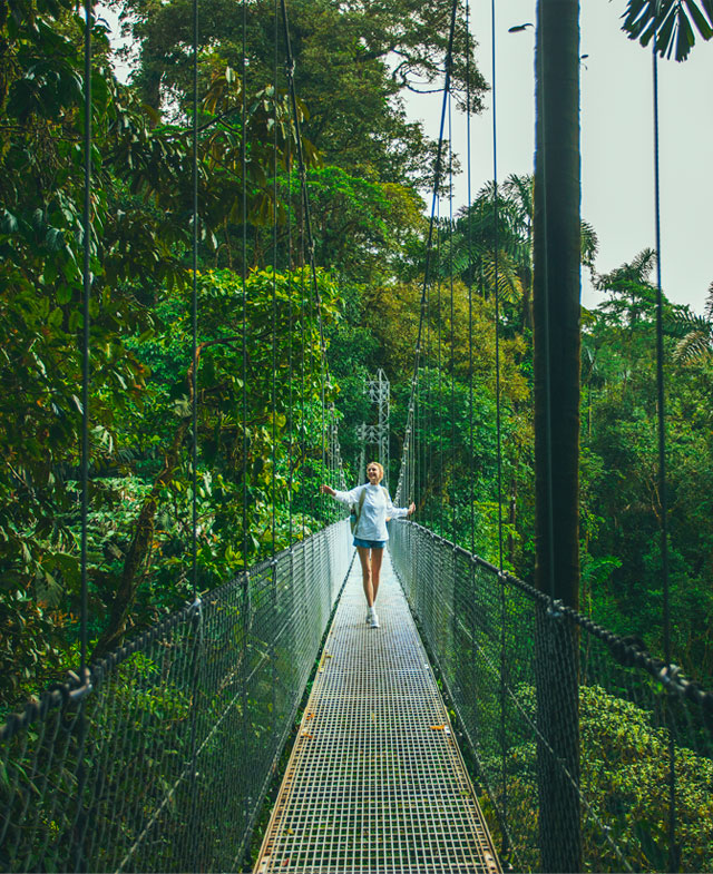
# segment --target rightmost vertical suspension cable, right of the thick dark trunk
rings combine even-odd
[[[656,14],[661,2],[656,3]],[[654,225],[656,237],[656,401],[657,401],[657,444],[658,444],[658,494],[661,504],[661,564],[663,576],[663,632],[664,661],[672,661],[671,652],[671,596],[668,581],[668,500],[666,489],[666,407],[664,385],[664,328],[663,291],[661,267],[661,166],[660,166],[660,118],[658,118],[658,56],[656,37],[652,40],[652,96],[654,136]],[[664,705],[665,706],[665,705]],[[676,752],[673,731],[668,728],[668,871],[677,872],[680,853],[676,845]]]

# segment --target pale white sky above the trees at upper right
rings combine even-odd
[[[582,0],[582,215],[599,239],[596,268],[606,273],[654,247],[651,51],[621,30],[625,0]],[[491,80],[490,3],[471,0],[479,68]],[[496,8],[498,177],[531,173],[535,131],[536,0],[500,0]],[[697,36],[697,35],[696,35]],[[703,312],[713,282],[713,41],[700,37],[688,60],[660,61],[662,279],[667,296]],[[491,97],[471,120],[472,193],[492,178]],[[427,109],[422,105],[429,104]],[[414,97],[409,111],[438,137],[440,95]],[[457,129],[460,127],[460,130]],[[467,200],[465,118],[453,117],[453,145],[463,174],[456,206]],[[430,206],[430,204],[429,204]],[[583,303],[602,294],[583,273]]]

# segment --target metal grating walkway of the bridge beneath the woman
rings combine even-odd
[[[354,561],[255,874],[500,871],[388,554],[377,608]]]

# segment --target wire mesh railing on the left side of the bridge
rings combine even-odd
[[[341,521],[0,729],[2,871],[235,871],[353,550]]]

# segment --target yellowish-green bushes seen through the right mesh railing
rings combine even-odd
[[[517,690],[535,718],[531,686]],[[583,857],[587,871],[666,871],[668,864],[668,734],[654,715],[602,686],[579,688]],[[529,731],[527,733],[529,737]],[[515,742],[508,753],[508,809],[518,860],[537,870],[536,744]],[[682,871],[713,864],[713,763],[676,745],[676,816]],[[616,851],[618,852],[615,852]]]

